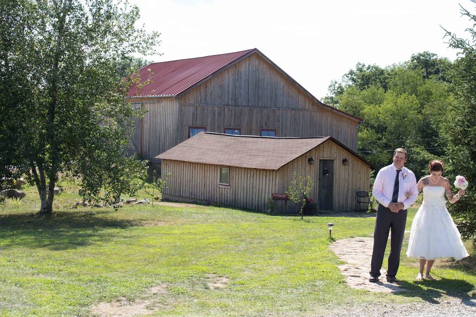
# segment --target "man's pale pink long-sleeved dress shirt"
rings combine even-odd
[[[395,177],[397,176],[397,168],[394,164],[381,168],[375,182],[373,183],[372,195],[384,207],[388,208],[388,204],[392,202],[393,187],[395,186]],[[402,167],[402,171],[398,177],[398,203],[403,203],[406,210],[416,202],[418,198],[418,187],[416,186],[415,174],[407,167]],[[412,196],[407,198],[406,193],[411,192]]]

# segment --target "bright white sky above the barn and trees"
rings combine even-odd
[[[130,0],[161,33],[167,61],[257,48],[316,98],[357,62],[382,67],[430,51],[456,58],[444,31],[471,24],[470,0]]]

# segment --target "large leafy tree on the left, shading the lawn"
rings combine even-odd
[[[118,61],[152,53],[158,34],[120,0],[0,1],[0,178],[28,175],[41,213],[62,173],[90,201],[134,192],[144,163],[124,150],[139,113]]]

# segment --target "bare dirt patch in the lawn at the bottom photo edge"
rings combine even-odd
[[[160,309],[160,302],[157,297],[168,294],[167,287],[160,284],[150,288],[146,296],[147,299],[128,300],[125,297],[119,297],[116,301],[110,303],[98,303],[91,311],[100,317],[134,317],[151,315]]]

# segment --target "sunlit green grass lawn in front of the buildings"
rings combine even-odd
[[[67,192],[53,216],[40,217],[34,188],[26,192],[0,206],[0,316],[93,316],[94,304],[140,299],[155,285],[168,294],[157,296],[153,316],[312,316],[354,304],[469,298],[476,288],[474,256],[437,261],[439,281],[414,282],[407,245],[398,277],[408,292],[348,287],[325,224],[335,223],[335,239],[366,237],[374,218],[302,221],[200,205],[71,210],[79,198]],[[210,289],[207,274],[228,277],[228,286]]]

